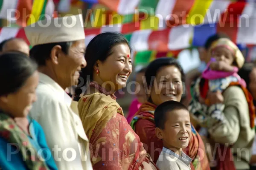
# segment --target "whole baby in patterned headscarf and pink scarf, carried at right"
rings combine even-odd
[[[192,85],[192,101],[189,104],[189,111],[201,125],[223,121],[221,113],[224,110],[224,99],[220,97],[218,100],[221,102],[210,103],[207,97],[209,91],[221,94],[230,85],[246,87],[244,80],[237,74],[244,64],[244,57],[236,44],[227,38],[221,38],[212,44],[210,52],[212,59],[207,64],[202,78]],[[207,116],[215,118],[216,122],[207,122]]]

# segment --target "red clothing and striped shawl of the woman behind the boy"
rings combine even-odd
[[[144,103],[140,106],[139,111],[131,121],[131,127],[140,137],[144,147],[148,149],[147,153],[150,154],[154,162],[157,162],[163,148],[163,141],[157,138],[154,131],[154,111],[156,107],[156,105],[149,102]],[[184,149],[183,152],[193,159],[190,164],[191,170],[210,170],[207,155],[205,153],[204,142],[195,128],[193,126],[191,127],[192,137],[188,147]]]

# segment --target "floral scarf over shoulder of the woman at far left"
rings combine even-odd
[[[14,119],[2,111],[0,111],[0,136],[8,143],[15,143],[20,147],[20,153],[29,170],[48,170],[45,162],[38,158],[37,150],[29,142],[27,134],[17,126]]]

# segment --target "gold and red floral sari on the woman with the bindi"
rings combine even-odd
[[[93,84],[96,88],[99,86],[96,82]],[[103,92],[102,87],[98,90]],[[106,93],[86,95],[79,100],[78,108],[90,140],[94,170],[157,170],[114,96]],[[144,167],[145,164],[151,168]]]

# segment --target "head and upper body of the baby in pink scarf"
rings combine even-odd
[[[204,79],[209,79],[209,90],[222,92],[230,82],[239,82],[246,87],[237,74],[244,65],[244,57],[238,47],[231,40],[221,38],[212,45],[210,51],[211,61],[202,74]]]

